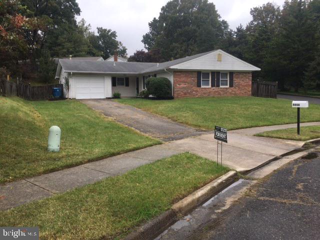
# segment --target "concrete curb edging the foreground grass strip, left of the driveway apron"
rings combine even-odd
[[[192,192],[182,200],[172,205],[171,209],[165,211],[161,215],[153,218],[143,226],[140,226],[136,231],[128,234],[125,240],[151,240],[163,232],[166,228],[178,220],[179,214],[185,214],[198,204],[206,200],[208,197],[216,194],[221,189],[234,181],[236,171],[228,171],[224,175],[212,180],[200,189]]]

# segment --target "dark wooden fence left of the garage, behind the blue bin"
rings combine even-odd
[[[52,99],[52,88],[61,88],[61,98],[63,98],[63,84],[51,84],[42,86],[30,86],[30,84],[7,81],[0,79],[0,95],[19,96],[26,100],[45,100]]]

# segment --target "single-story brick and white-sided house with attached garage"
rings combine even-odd
[[[55,77],[64,84],[64,95],[77,99],[112,97],[114,92],[136,96],[150,76],[167,77],[175,98],[247,96],[251,72],[258,70],[217,49],[161,63],[59,59]]]

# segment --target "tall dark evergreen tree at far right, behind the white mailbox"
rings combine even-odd
[[[282,88],[287,85],[295,91],[303,86],[304,72],[316,51],[317,29],[307,5],[304,0],[285,1],[268,60],[269,67],[277,65],[271,72],[273,79],[280,81]]]

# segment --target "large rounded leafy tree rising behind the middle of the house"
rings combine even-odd
[[[171,0],[149,22],[142,42],[147,50],[161,49],[165,60],[214,49],[224,35],[225,21],[207,0]]]

